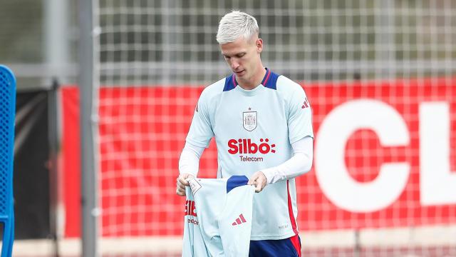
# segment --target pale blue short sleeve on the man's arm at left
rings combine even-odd
[[[187,134],[186,141],[194,146],[207,147],[214,132],[209,118],[209,103],[207,94],[199,96],[195,113],[193,114],[192,124]]]

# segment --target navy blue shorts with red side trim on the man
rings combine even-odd
[[[249,257],[301,257],[301,238],[250,241]]]

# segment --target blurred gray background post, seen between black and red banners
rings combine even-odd
[[[57,116],[57,86],[58,82],[68,83],[67,72],[70,41],[68,40],[69,9],[68,0],[48,0],[44,3],[44,34],[46,64],[49,74],[43,76],[42,83],[49,88],[48,91],[48,116],[49,116],[49,224],[53,239],[54,256],[59,256],[58,241],[61,239],[61,183],[57,169],[58,152],[58,116]]]

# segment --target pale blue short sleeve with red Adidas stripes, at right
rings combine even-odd
[[[288,130],[290,143],[306,136],[314,138],[311,105],[301,86],[298,86],[290,96]]]

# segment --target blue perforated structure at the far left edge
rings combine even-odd
[[[13,156],[16,78],[0,65],[0,222],[4,223],[1,257],[9,257],[14,242]]]

